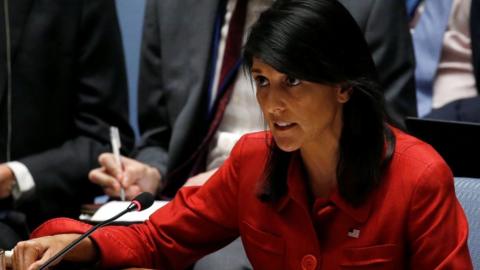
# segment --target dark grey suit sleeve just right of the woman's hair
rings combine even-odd
[[[374,0],[365,29],[387,112],[400,126],[405,116],[417,115],[415,59],[405,9],[404,1]]]

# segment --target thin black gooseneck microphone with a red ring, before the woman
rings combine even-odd
[[[44,264],[42,264],[42,266],[40,266],[40,270],[43,270],[43,269],[46,269],[47,267],[49,267],[50,264],[52,264],[55,260],[64,256],[67,252],[69,252],[75,246],[77,246],[78,243],[80,243],[80,241],[82,241],[86,237],[90,236],[98,228],[112,223],[114,220],[116,220],[117,218],[125,215],[128,212],[145,210],[145,209],[149,208],[150,206],[152,206],[153,201],[154,201],[154,198],[153,198],[153,195],[151,193],[148,193],[148,192],[140,193],[139,195],[137,195],[137,197],[135,197],[132,200],[130,205],[125,210],[123,210],[122,212],[118,213],[117,215],[115,215],[115,216],[113,216],[113,217],[111,217],[111,218],[109,218],[105,221],[102,221],[102,222],[98,223],[97,225],[93,226],[86,233],[82,234],[76,240],[74,240],[73,242],[68,244],[68,246],[66,246],[65,248],[60,250],[57,254],[55,254],[55,256],[48,259]]]

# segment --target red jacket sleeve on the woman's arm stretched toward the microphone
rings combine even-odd
[[[237,238],[241,144],[204,186],[180,189],[147,222],[108,226],[92,234],[101,268],[185,269]],[[56,219],[44,223],[32,236],[83,233],[89,228],[78,221]]]

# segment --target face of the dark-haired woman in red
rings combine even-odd
[[[318,147],[342,128],[343,104],[350,91],[301,81],[254,58],[257,100],[278,147],[286,152]]]

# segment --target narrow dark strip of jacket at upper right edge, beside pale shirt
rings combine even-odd
[[[472,41],[473,73],[480,93],[480,0],[472,0],[470,9],[470,38]]]

